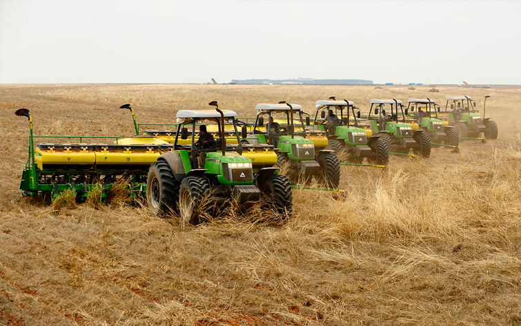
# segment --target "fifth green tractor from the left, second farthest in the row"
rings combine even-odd
[[[438,119],[440,107],[434,99],[408,99],[406,115],[412,116],[431,138],[431,145],[449,146],[458,151],[460,133],[447,122]],[[436,107],[438,106],[438,110]]]

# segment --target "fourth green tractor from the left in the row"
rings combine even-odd
[[[417,124],[405,122],[403,102],[397,99],[371,99],[371,109],[366,121],[360,122],[361,128],[369,128],[373,134],[378,133],[386,140],[392,154],[429,157],[431,155],[431,139],[427,133],[417,128]],[[385,111],[385,108],[388,108]],[[399,121],[398,117],[402,117]],[[417,129],[414,130],[414,127]]]

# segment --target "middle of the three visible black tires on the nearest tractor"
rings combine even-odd
[[[198,224],[201,202],[210,195],[210,183],[201,176],[186,177],[179,186],[179,217],[182,224]]]

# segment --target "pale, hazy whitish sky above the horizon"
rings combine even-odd
[[[521,84],[521,1],[0,0],[0,83]]]

